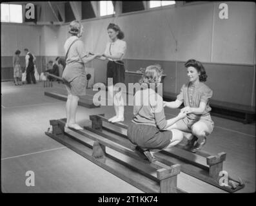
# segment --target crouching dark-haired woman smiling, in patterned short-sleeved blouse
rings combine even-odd
[[[190,59],[185,63],[185,67],[189,82],[182,86],[175,102],[164,102],[164,106],[179,108],[182,102],[184,103],[185,107],[181,111],[187,113],[186,118],[168,129],[180,129],[184,132],[184,136],[189,140],[188,149],[196,153],[206,144],[206,136],[213,131],[214,122],[210,115],[212,108],[209,104],[213,91],[204,84],[207,75],[201,62]]]

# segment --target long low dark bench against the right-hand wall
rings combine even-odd
[[[164,92],[164,100],[175,101],[177,94]],[[221,102],[217,100],[211,100],[210,106],[212,108],[211,115],[216,117],[228,118],[231,120],[243,122],[244,124],[250,124],[255,121],[255,107],[244,106],[242,104],[234,104],[230,102]],[[181,106],[182,108],[183,106]]]

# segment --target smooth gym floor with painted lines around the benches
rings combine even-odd
[[[44,135],[50,119],[65,117],[65,102],[44,96],[44,91],[63,91],[54,82],[14,86],[1,82],[1,191],[2,192],[142,192],[74,151]],[[92,89],[88,95],[92,97]],[[166,109],[172,118],[179,109]],[[90,125],[89,115],[104,113],[112,117],[112,106],[77,110],[79,124]],[[132,106],[125,108],[125,123],[132,118]],[[246,186],[237,192],[255,192],[255,123],[242,124],[212,117],[215,129],[204,150],[226,152],[224,170],[241,177]],[[110,153],[115,151],[108,150]],[[118,153],[116,154],[119,155]],[[27,187],[26,171],[34,171],[35,186]],[[187,192],[224,192],[217,187],[181,173],[178,187]]]

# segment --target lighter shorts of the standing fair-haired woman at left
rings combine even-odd
[[[64,79],[63,79],[64,80]],[[83,96],[86,95],[87,79],[85,74],[75,77],[71,82],[64,80],[68,95]]]

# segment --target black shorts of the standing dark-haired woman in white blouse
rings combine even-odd
[[[122,61],[118,61],[123,64]],[[113,78],[113,84],[117,84],[119,82],[124,83],[124,65],[118,64],[113,61],[108,61],[106,66],[106,82],[108,82],[108,78]]]

